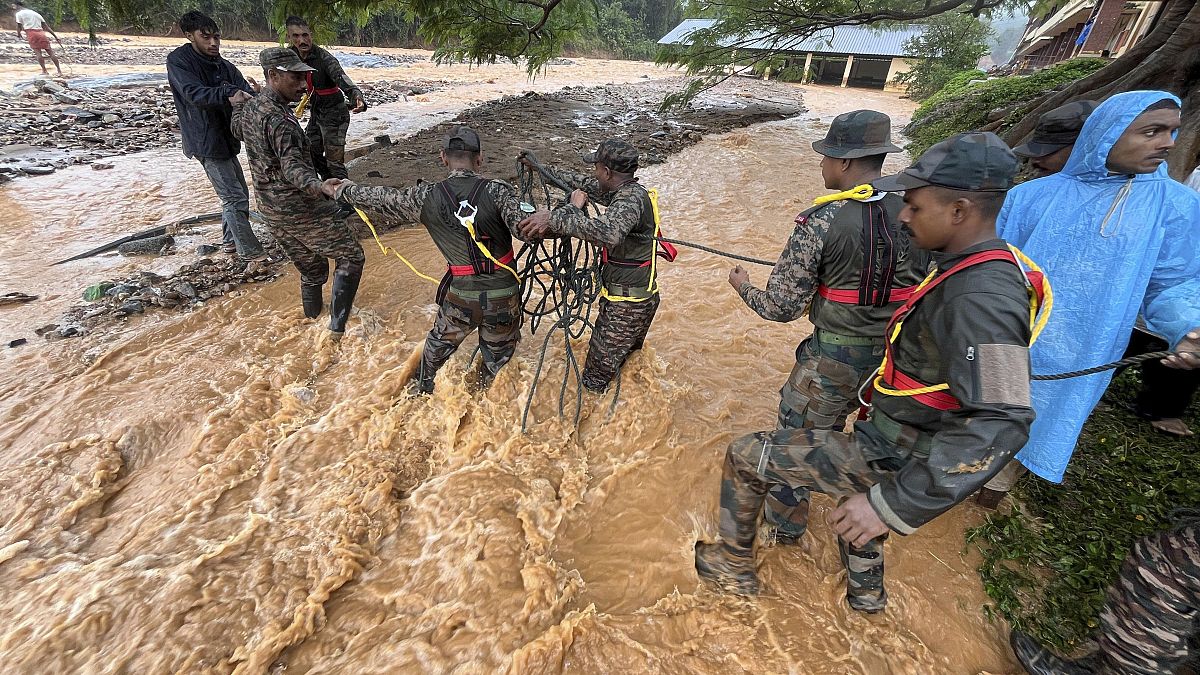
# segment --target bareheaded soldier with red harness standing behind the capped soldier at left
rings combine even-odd
[[[337,58],[312,43],[312,29],[300,17],[287,19],[288,42],[300,60],[312,68],[308,73],[308,143],[312,162],[322,178],[346,178],[346,131],[350,113],[367,109],[362,91],[346,74]],[[349,108],[346,100],[354,102]]]

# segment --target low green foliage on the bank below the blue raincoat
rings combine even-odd
[[[989,613],[1044,644],[1070,649],[1086,638],[1132,543],[1169,528],[1172,509],[1200,504],[1195,441],[1124,412],[1136,392],[1133,372],[1114,381],[1062,485],[1024,479],[1014,491],[1024,512],[994,514],[967,533],[983,554]]]

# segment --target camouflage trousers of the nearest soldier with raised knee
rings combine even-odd
[[[856,426],[862,429],[864,424]],[[817,491],[841,501],[866,492],[907,461],[906,450],[884,442],[866,442],[862,432],[850,436],[827,429],[781,429],[743,436],[726,450],[721,477],[720,533],[726,551],[742,558],[754,555],[758,514],[774,488]],[[803,533],[808,508],[794,516],[792,525]],[[838,539],[847,571],[846,597],[854,609],[877,611],[887,603],[886,539],[883,534],[862,548]]]

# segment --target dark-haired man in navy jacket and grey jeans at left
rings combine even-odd
[[[259,258],[263,245],[250,227],[250,190],[238,161],[241,143],[229,129],[232,106],[248,101],[258,84],[247,83],[236,66],[221,58],[216,22],[188,12],[179,18],[179,29],[187,44],[167,56],[167,80],[179,113],[184,155],[199,160],[221,198],[224,251]]]

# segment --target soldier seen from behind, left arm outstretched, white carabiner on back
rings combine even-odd
[[[491,384],[521,339],[521,288],[512,271],[512,235],[528,214],[521,210],[511,185],[475,173],[484,166],[484,155],[479,136],[470,129],[451,131],[442,145],[442,163],[450,168],[444,181],[418,183],[407,190],[349,180],[326,183],[336,185],[335,196],[349,204],[400,222],[425,225],[446,258],[446,275],[438,289],[440,310],[425,339],[416,375],[421,394],[433,393],[433,376],[472,331],[479,330],[484,357],[475,374],[480,387]],[[474,237],[458,215],[472,215]]]

